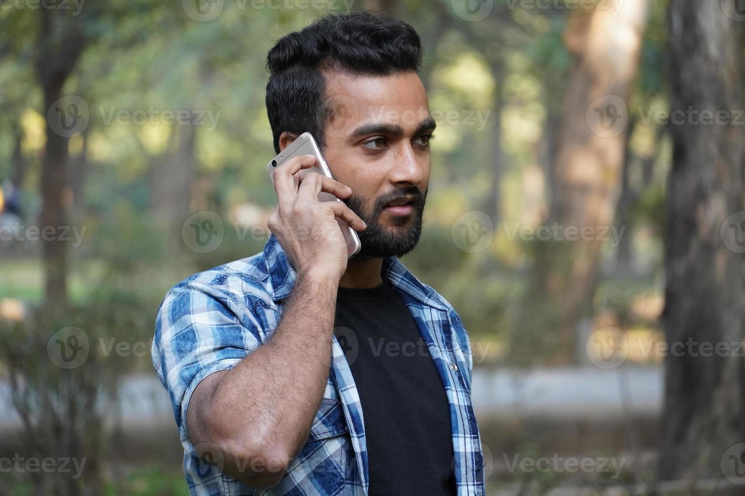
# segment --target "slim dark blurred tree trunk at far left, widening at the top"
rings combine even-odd
[[[39,9],[39,33],[34,54],[34,66],[42,86],[44,107],[42,115],[63,96],[65,81],[75,69],[77,60],[86,45],[80,19],[69,10]],[[65,118],[65,117],[61,117]],[[46,146],[42,156],[41,193],[42,210],[39,228],[54,228],[57,232],[69,225],[68,209],[72,204],[72,191],[68,183],[69,137],[56,132],[47,123]],[[57,128],[60,129],[60,128]],[[67,301],[68,248],[57,236],[42,236],[45,270],[45,300],[50,305]]]

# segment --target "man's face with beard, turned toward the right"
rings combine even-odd
[[[345,203],[367,223],[360,254],[402,257],[422,233],[434,119],[415,72],[385,77],[326,73],[323,155]]]

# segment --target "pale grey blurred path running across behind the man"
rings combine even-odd
[[[546,419],[615,419],[630,413],[656,415],[662,405],[661,367],[538,368],[474,371],[472,395],[479,416]],[[121,419],[125,426],[170,424],[168,394],[153,374],[127,376],[121,385]],[[0,429],[18,428],[8,384],[0,381]]]

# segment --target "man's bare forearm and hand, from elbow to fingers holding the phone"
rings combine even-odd
[[[258,489],[282,479],[308,439],[326,390],[336,296],[346,270],[336,219],[366,228],[346,204],[318,201],[321,191],[348,198],[352,190],[340,182],[308,173],[296,189],[293,175],[314,163],[305,155],[274,171],[278,202],[267,225],[297,271],[279,325],[235,367],[200,381],[188,404],[192,444],[217,446],[223,471]]]

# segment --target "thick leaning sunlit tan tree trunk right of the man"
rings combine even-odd
[[[575,329],[592,306],[604,244],[599,238],[601,230],[613,225],[621,186],[628,120],[624,102],[639,65],[647,21],[647,0],[615,6],[618,12],[607,4],[577,10],[565,30],[574,63],[549,178],[553,197],[547,222],[548,228],[557,225],[561,231],[552,231],[550,242],[533,243],[533,277],[515,329],[518,361],[534,351],[556,364],[575,361]],[[580,237],[583,228],[594,234]],[[565,240],[568,236],[577,240]]]

